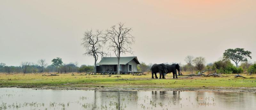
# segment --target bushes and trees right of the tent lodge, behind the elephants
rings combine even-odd
[[[215,71],[216,73],[224,73],[224,74],[239,74],[247,72],[250,75],[256,73],[256,64],[252,64],[248,61],[248,59],[252,59],[250,56],[251,51],[245,51],[242,48],[236,49],[227,49],[223,53],[222,59],[215,61],[213,63],[209,63],[206,65],[206,60],[204,57],[193,57],[188,55],[184,60],[187,63],[186,65],[180,65],[181,71],[189,71],[193,74],[194,71],[199,72],[205,69]],[[231,63],[233,61],[235,65]],[[238,63],[241,62],[240,66]],[[164,63],[168,64],[168,63]],[[171,63],[172,64],[172,63]],[[152,66],[152,64],[150,64]],[[138,66],[138,69],[141,71],[150,71],[150,65],[146,65],[142,63]]]

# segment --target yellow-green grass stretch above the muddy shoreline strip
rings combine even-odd
[[[0,87],[118,87],[118,88],[202,88],[214,87],[256,87],[256,75],[243,75],[248,77],[189,77],[180,76],[172,79],[170,74],[167,79],[151,79],[151,75],[80,75],[60,74],[59,76],[42,76],[42,74],[14,74],[0,75]],[[186,76],[187,77],[187,76]]]

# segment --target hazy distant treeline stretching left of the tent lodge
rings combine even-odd
[[[61,60],[61,59],[60,59]],[[43,63],[42,63],[43,62]],[[62,62],[62,61],[61,61]],[[44,59],[40,59],[37,63],[33,62],[21,62],[20,66],[6,66],[4,63],[0,63],[0,73],[69,73],[69,72],[92,72],[94,66],[82,65],[77,66],[77,62],[63,64],[56,66],[54,64],[48,65]]]

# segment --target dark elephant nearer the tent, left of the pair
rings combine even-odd
[[[151,73],[152,73],[152,79],[154,79],[154,74],[155,74],[155,76],[156,76],[156,73],[158,73],[159,72],[159,74],[160,74],[160,77],[159,77],[159,79],[165,79],[165,77],[164,77],[164,74],[166,74],[167,73],[167,67],[166,67],[166,65],[165,64],[154,64],[151,68],[150,68],[150,71],[151,71]],[[162,76],[163,75],[163,76]],[[161,76],[162,76],[162,78],[161,78]],[[157,76],[156,76],[156,78],[158,78]]]

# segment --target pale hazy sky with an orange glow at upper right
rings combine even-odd
[[[94,62],[80,45],[87,29],[133,28],[134,56],[146,63],[187,55],[218,60],[229,48],[256,59],[256,0],[0,0],[0,62],[20,66],[60,57]],[[114,56],[114,54],[112,55]],[[133,56],[126,54],[123,56]],[[99,61],[98,61],[99,62]]]

